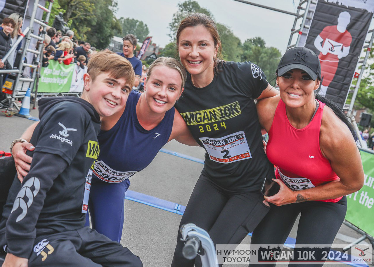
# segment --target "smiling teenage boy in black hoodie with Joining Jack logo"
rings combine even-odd
[[[28,151],[33,163],[22,184],[15,177],[0,222],[3,267],[142,266],[129,249],[84,227],[100,120],[123,108],[134,70],[103,51],[92,57],[83,80],[81,98],[38,102],[35,150]]]

